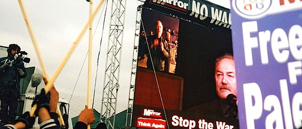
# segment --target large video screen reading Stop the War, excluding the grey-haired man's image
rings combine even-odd
[[[215,61],[225,53],[233,54],[231,31],[143,8],[131,126],[239,128],[236,118],[193,109],[219,99]]]

